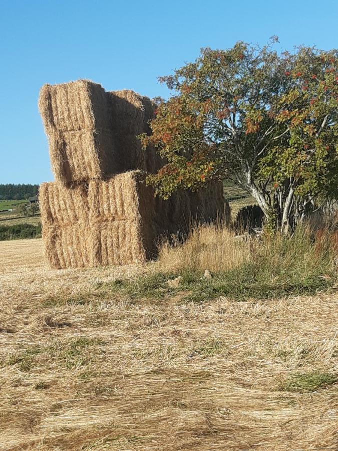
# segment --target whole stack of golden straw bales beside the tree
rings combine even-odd
[[[163,165],[136,138],[150,133],[154,106],[147,97],[79,80],[43,86],[39,108],[56,178],[40,187],[51,268],[144,263],[161,235],[223,214],[219,183],[169,201],[146,185],[146,173]]]

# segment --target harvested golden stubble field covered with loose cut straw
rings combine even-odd
[[[194,303],[0,243],[0,449],[337,448],[336,294]]]

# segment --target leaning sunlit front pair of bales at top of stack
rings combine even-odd
[[[88,80],[44,85],[39,109],[59,183],[102,178],[123,169],[114,147],[111,103],[101,85]]]

